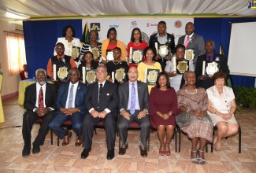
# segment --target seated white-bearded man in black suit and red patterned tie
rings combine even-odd
[[[44,69],[38,69],[35,75],[37,82],[27,86],[25,90],[24,109],[27,109],[27,111],[23,115],[22,135],[24,148],[22,150],[22,156],[30,155],[32,126],[39,118],[43,122],[33,142],[32,153],[36,154],[40,152],[39,145],[43,145],[46,133],[49,130],[48,123],[55,113],[57,90],[54,85],[46,83],[46,71]]]

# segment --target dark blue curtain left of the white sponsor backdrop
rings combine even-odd
[[[43,20],[24,21],[24,40],[28,64],[28,76],[35,77],[38,68],[46,70],[50,57],[53,57],[54,47],[66,25],[72,25],[76,38],[82,36],[82,20]]]

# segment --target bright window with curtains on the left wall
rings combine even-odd
[[[27,64],[24,35],[6,32],[6,43],[9,61],[9,72],[11,75],[19,74],[22,65]]]

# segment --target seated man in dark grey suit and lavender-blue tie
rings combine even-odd
[[[128,71],[129,81],[119,86],[119,110],[121,112],[118,131],[122,141],[119,154],[124,155],[128,149],[128,126],[135,121],[141,127],[139,145],[140,155],[147,156],[147,138],[150,132],[150,120],[148,116],[148,90],[147,84],[137,81],[138,70],[132,67]]]

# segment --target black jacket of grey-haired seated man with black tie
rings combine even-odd
[[[110,83],[106,80],[103,88],[101,98],[98,100],[98,82],[91,83],[88,86],[88,92],[85,97],[87,110],[95,109],[102,112],[104,109],[109,109],[111,112],[117,112],[117,105],[119,102],[117,94],[117,84]]]

